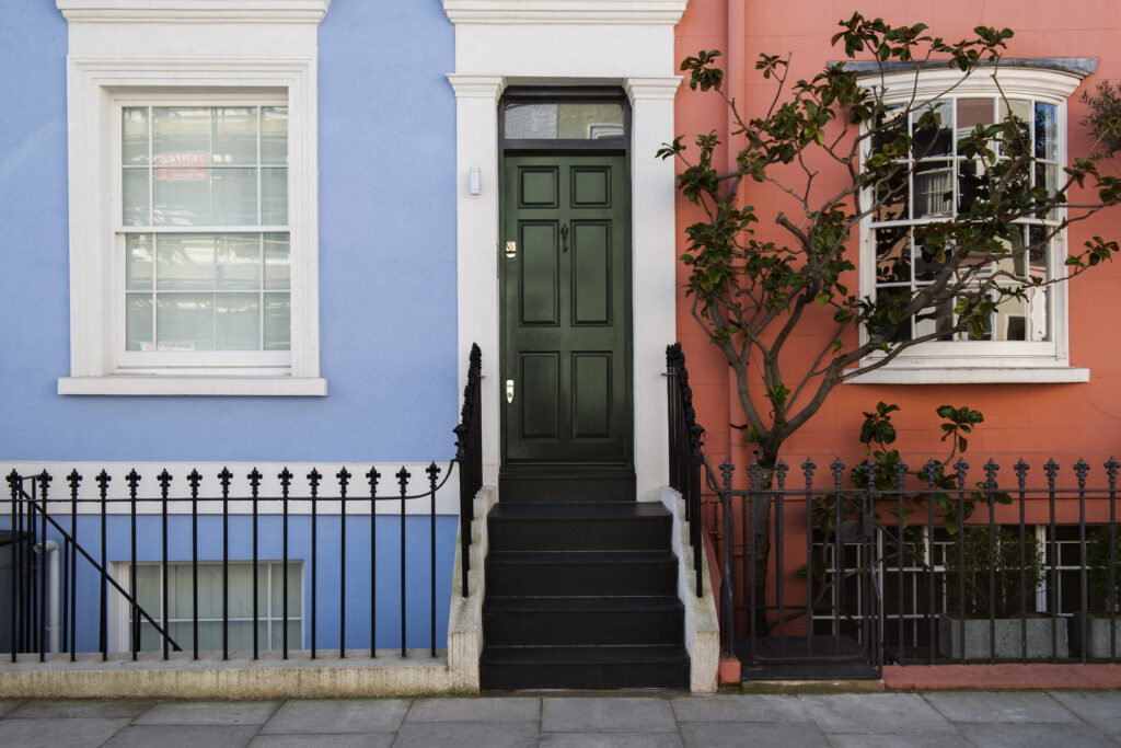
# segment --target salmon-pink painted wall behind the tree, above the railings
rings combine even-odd
[[[804,0],[775,2],[762,0],[693,0],[677,28],[678,59],[700,49],[741,49],[742,56],[724,57],[728,84],[743,102],[747,116],[758,116],[770,102],[771,82],[753,70],[760,53],[793,54],[791,80],[810,77],[830,59],[841,55],[830,46],[837,30],[836,21],[859,10],[865,16],[881,16],[891,24],[925,22],[930,33],[948,40],[964,38],[978,25],[1010,27],[1016,36],[1009,43],[1009,57],[1095,57],[1097,71],[1071,98],[1067,122],[1068,155],[1084,154],[1088,137],[1078,126],[1085,108],[1077,101],[1082,91],[1100,81],[1121,80],[1121,53],[1114,52],[1121,27],[1121,2],[1081,0],[1056,3],[1053,0]],[[731,31],[729,29],[732,29]],[[687,136],[716,130],[725,139],[728,114],[712,94],[693,92],[686,84],[677,95],[676,130]],[[1121,159],[1118,159],[1121,161]],[[1121,163],[1111,165],[1121,172]],[[839,175],[843,176],[843,175]],[[836,184],[836,183],[834,183]],[[832,186],[832,185],[831,185]],[[779,234],[766,225],[780,205],[773,188],[751,185],[744,201],[759,210],[767,237]],[[697,220],[696,209],[678,198],[678,249],[684,250],[684,228]],[[1086,237],[1101,234],[1121,239],[1121,209],[1109,215],[1077,224],[1069,231],[1068,243],[1078,247]],[[687,273],[678,267],[684,285]],[[1010,471],[1019,456],[1041,478],[1041,464],[1054,456],[1073,480],[1069,465],[1080,456],[1093,467],[1092,480],[1104,483],[1101,469],[1110,455],[1121,458],[1121,321],[1115,310],[1117,288],[1121,284],[1121,260],[1097,268],[1075,279],[1069,293],[1071,361],[1091,370],[1088,384],[1064,385],[842,385],[822,410],[787,442],[787,462],[800,464],[813,456],[823,460],[840,455],[850,464],[862,458],[858,432],[861,413],[878,400],[902,407],[896,414],[899,440],[896,443],[912,463],[928,456],[944,456],[939,443],[935,407],[942,404],[969,405],[984,413],[985,423],[971,440],[966,459],[980,471],[990,456]],[[858,287],[853,277],[850,286]],[[749,458],[742,434],[729,423],[743,423],[735,400],[734,377],[723,357],[712,347],[691,316],[691,299],[678,297],[677,334],[689,363],[689,378],[697,406],[698,422],[707,428],[706,452],[714,463],[730,452],[738,465]],[[815,342],[810,333],[807,348]],[[741,471],[742,472],[742,471]],[[1010,473],[1009,473],[1010,474]]]

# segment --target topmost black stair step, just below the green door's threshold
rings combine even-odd
[[[652,501],[499,504],[488,517],[495,551],[656,551],[671,526]]]

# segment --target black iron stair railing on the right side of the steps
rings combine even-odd
[[[685,499],[685,519],[693,546],[693,569],[696,572],[696,594],[704,597],[702,579],[704,553],[701,527],[701,469],[705,465],[701,451],[704,428],[696,423],[693,390],[685,368],[682,344],[666,348],[667,396],[669,401],[669,486]]]

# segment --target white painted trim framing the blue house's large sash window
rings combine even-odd
[[[186,0],[169,3],[58,1],[65,13],[82,11],[73,18],[67,15],[71,376],[59,379],[59,394],[108,394],[102,391],[105,382],[83,386],[67,380],[110,378],[120,366],[114,345],[118,340],[114,288],[119,280],[114,275],[114,229],[120,216],[117,191],[110,186],[113,179],[119,179],[112,158],[118,128],[112,114],[115,96],[145,93],[161,100],[175,96],[176,92],[197,95],[200,91],[215,95],[270,91],[285,95],[291,251],[291,364],[287,373],[291,380],[318,379],[316,58],[317,22],[322,12],[278,27],[267,13],[254,18],[259,24],[244,18],[226,24],[229,19],[214,17],[211,12],[217,7],[237,8],[243,0],[217,4]],[[307,4],[306,0],[298,0],[298,3]],[[251,4],[266,7],[263,2]],[[321,4],[325,12],[326,4]],[[149,22],[137,28],[115,22],[112,13],[106,17],[95,12],[99,8],[151,10],[157,7],[189,9],[213,22]],[[221,373],[219,379],[222,379]],[[142,377],[122,378],[112,386],[111,394],[128,394],[126,390],[133,384],[138,385],[133,394],[191,394],[184,391],[191,387],[184,388],[175,378]],[[205,385],[201,389],[206,389]],[[325,385],[321,389],[325,393]],[[288,394],[287,390],[270,394]],[[251,393],[239,386],[215,386],[207,394]],[[305,389],[291,394],[314,393]]]

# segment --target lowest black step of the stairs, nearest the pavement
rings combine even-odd
[[[688,689],[682,646],[492,647],[480,658],[487,691]]]

